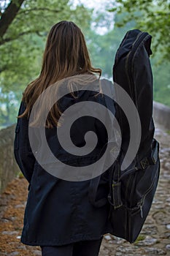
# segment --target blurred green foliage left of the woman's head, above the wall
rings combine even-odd
[[[8,4],[0,3],[1,13]],[[90,10],[82,5],[72,8],[69,0],[25,0],[0,39],[1,127],[15,123],[23,90],[39,75],[47,33],[60,20],[72,20],[87,28]]]

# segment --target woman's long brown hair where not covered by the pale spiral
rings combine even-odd
[[[36,99],[48,86],[63,78],[85,73],[98,73],[101,76],[101,69],[92,67],[82,31],[71,21],[56,23],[47,37],[40,75],[23,92],[22,100],[26,103],[26,110],[18,117],[30,115]],[[53,105],[46,126],[51,128],[57,125],[60,116],[58,104]]]

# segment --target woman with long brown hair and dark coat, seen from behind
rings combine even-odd
[[[43,246],[42,255],[90,256],[90,252],[93,256],[98,255],[102,236],[109,232],[109,203],[105,200],[103,206],[97,208],[89,199],[91,181],[96,177],[90,165],[101,157],[101,150],[108,140],[107,129],[95,118],[96,114],[101,116],[99,105],[106,108],[104,97],[102,94],[95,96],[93,89],[80,90],[74,97],[71,83],[68,86],[70,93],[67,91],[57,104],[53,102],[55,94],[48,95],[34,112],[39,97],[51,85],[55,86],[58,95],[58,83],[62,79],[92,75],[94,80],[98,80],[93,73],[98,73],[100,77],[101,69],[92,67],[80,29],[68,21],[55,24],[47,37],[40,75],[23,93],[15,129],[15,159],[29,183],[21,241],[23,244]],[[94,108],[93,103],[96,103]],[[74,105],[81,108],[66,116]],[[47,116],[43,116],[47,110]],[[85,115],[81,116],[84,110]],[[104,114],[102,120],[106,117]],[[88,140],[85,141],[87,134]],[[66,148],[61,145],[62,142]],[[78,154],[74,154],[74,148]],[[83,151],[86,154],[82,154]],[[88,178],[82,171],[85,166],[90,174]],[[48,171],[49,168],[53,172]],[[101,175],[101,170],[98,173]],[[107,198],[108,189],[108,171],[103,170],[96,199]],[[84,249],[75,245],[82,241],[87,242]],[[68,244],[72,246],[67,247]],[[75,253],[73,246],[77,248]],[[68,254],[66,248],[69,248]]]

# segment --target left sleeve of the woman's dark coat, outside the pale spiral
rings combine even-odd
[[[24,102],[21,102],[18,115],[22,114],[25,109]],[[31,151],[28,138],[28,118],[18,118],[15,127],[14,155],[23,176],[30,183],[36,159]]]

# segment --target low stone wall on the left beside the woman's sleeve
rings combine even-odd
[[[15,125],[0,130],[0,192],[19,171],[13,154],[14,135]]]

